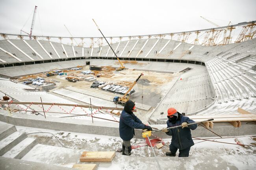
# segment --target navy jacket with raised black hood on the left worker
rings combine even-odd
[[[146,128],[141,120],[139,120],[139,118],[132,112],[134,106],[135,104],[133,101],[127,101],[120,116],[119,134],[124,141],[130,141],[134,137],[134,129]]]

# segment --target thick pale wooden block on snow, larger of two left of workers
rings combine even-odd
[[[85,151],[80,156],[81,162],[111,162],[115,152],[90,152]]]

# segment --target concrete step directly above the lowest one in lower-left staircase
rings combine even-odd
[[[0,141],[0,156],[8,152],[13,146],[17,145],[27,137],[25,132],[14,132]]]

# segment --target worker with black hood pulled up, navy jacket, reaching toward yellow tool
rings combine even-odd
[[[152,130],[150,126],[147,126],[137,118],[132,112],[135,109],[135,103],[128,100],[124,105],[124,110],[120,115],[119,121],[119,134],[122,143],[122,155],[131,155],[132,146],[131,139],[134,137],[134,129],[147,129]]]

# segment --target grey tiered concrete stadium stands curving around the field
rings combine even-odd
[[[208,107],[217,109],[216,104],[227,104],[224,107],[234,110],[242,104],[245,105],[245,100],[254,101],[256,97],[255,38],[224,46],[198,46],[151,38],[117,42],[111,47],[121,60],[180,63],[177,67],[182,66],[182,69],[189,67],[189,64],[196,64],[193,69],[182,74],[182,81],[177,81],[167,94],[167,97],[172,96],[171,100],[160,104],[161,107],[174,106],[180,112],[191,114]],[[96,59],[103,65],[113,63],[111,60],[116,59],[109,46],[82,48],[44,40],[0,40],[0,55],[1,67],[6,67],[0,69],[3,75],[11,69],[9,66],[23,70],[28,67],[32,69],[33,64],[40,63],[41,68],[37,71],[40,72],[48,71],[47,69],[53,68],[54,65],[59,69],[79,65],[80,59],[86,59],[84,57]],[[111,60],[105,62],[107,60],[100,59]],[[19,66],[19,62],[24,62],[21,65],[25,66]],[[154,69],[158,66],[160,64],[151,64],[144,69]],[[162,67],[166,66],[168,64]],[[26,70],[26,74],[30,73],[32,72]],[[154,117],[154,113],[152,116]]]

